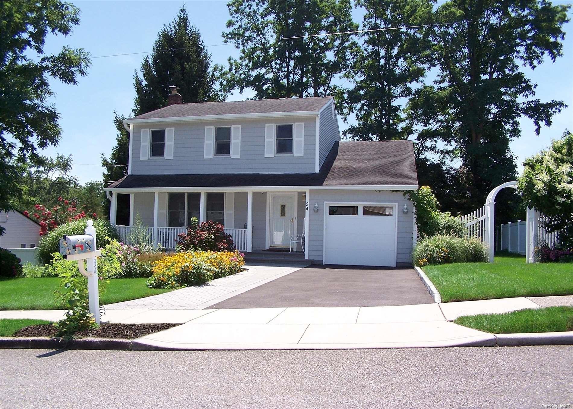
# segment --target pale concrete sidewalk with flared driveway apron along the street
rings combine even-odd
[[[174,350],[493,346],[496,344],[494,335],[450,321],[462,315],[573,302],[573,296],[547,298],[536,297],[536,302],[518,297],[389,307],[108,309],[103,320],[125,324],[182,324],[134,340],[134,344]],[[0,311],[0,318],[57,320],[63,315],[60,310]]]

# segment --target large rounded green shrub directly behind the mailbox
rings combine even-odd
[[[52,259],[52,254],[60,251],[60,239],[63,236],[85,234],[85,220],[70,221],[58,226],[48,235],[42,237],[38,248],[38,260],[47,264]],[[102,248],[109,244],[111,240],[119,239],[115,228],[107,220],[96,219],[93,221],[96,228],[97,247]]]

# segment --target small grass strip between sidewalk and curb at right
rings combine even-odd
[[[573,307],[522,309],[459,317],[456,324],[491,333],[573,331]]]

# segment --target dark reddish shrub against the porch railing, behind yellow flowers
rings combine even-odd
[[[233,237],[225,233],[223,225],[212,220],[199,224],[193,217],[187,233],[181,233],[177,240],[177,251],[210,250],[233,251]]]

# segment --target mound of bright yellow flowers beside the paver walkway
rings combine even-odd
[[[244,254],[237,251],[175,253],[154,263],[147,285],[151,288],[189,287],[236,274],[244,264]]]

